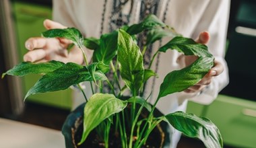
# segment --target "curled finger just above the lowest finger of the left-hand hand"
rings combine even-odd
[[[36,48],[43,48],[46,45],[46,38],[29,38],[25,42],[25,46],[28,50],[34,50]]]

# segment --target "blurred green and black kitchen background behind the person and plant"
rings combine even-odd
[[[24,42],[44,31],[51,19],[51,0],[0,1],[0,73],[22,61]],[[224,147],[256,147],[256,0],[231,0],[226,42],[230,83],[209,106],[189,102],[187,112],[210,118],[224,139]],[[8,118],[61,130],[71,110],[71,90],[30,96],[38,77],[0,80],[0,118]],[[182,137],[179,147],[204,147]]]

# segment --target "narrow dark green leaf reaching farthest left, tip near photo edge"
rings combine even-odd
[[[59,67],[62,67],[63,65],[64,63],[59,61],[50,61],[47,63],[22,62],[6,73],[3,73],[2,78],[5,75],[24,76],[28,74],[45,74],[51,71],[55,71],[55,69],[59,69]]]

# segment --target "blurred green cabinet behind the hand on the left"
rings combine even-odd
[[[43,21],[51,19],[51,7],[45,5],[32,5],[30,3],[21,3],[13,1],[13,16],[15,20],[15,29],[17,33],[20,62],[23,61],[23,55],[28,52],[25,48],[25,41],[34,36],[40,36],[41,32],[45,31]],[[23,77],[24,96],[28,89],[36,83],[40,76],[28,75]],[[37,94],[30,96],[28,102],[36,102],[55,106],[58,108],[71,108],[71,89],[65,91],[49,92],[46,94]]]

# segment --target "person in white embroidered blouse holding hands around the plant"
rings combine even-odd
[[[186,110],[187,100],[201,104],[210,104],[218,92],[228,83],[228,67],[224,60],[226,32],[228,25],[230,1],[228,0],[53,0],[53,19],[44,21],[44,27],[53,28],[75,27],[82,31],[86,37],[99,38],[100,34],[116,30],[125,24],[138,23],[150,13],[154,13],[165,24],[173,27],[185,37],[193,38],[201,44],[207,44],[214,55],[214,67],[197,83],[183,92],[168,95],[160,100],[158,109],[164,114],[177,110]],[[210,39],[211,38],[211,39]],[[139,44],[144,44],[145,37],[141,37]],[[158,48],[168,42],[162,39],[148,49],[147,57],[150,59]],[[24,55],[24,61],[43,62],[57,60],[82,64],[82,52],[73,48],[67,53],[71,42],[63,38],[32,37],[26,41],[29,52]],[[87,56],[92,52],[86,50]],[[153,89],[152,100],[157,97],[160,84],[164,76],[175,69],[181,69],[195,61],[193,56],[183,56],[175,50],[168,50],[160,54],[152,65],[158,73],[158,79],[150,79],[146,85],[147,90]],[[90,94],[89,90],[87,93]],[[75,99],[77,100],[77,99]],[[75,104],[79,101],[75,101]],[[172,129],[171,147],[176,147],[181,133]]]

